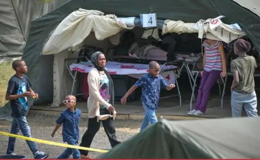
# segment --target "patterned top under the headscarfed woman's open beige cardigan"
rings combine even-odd
[[[110,92],[109,92],[109,79],[106,74],[99,73],[99,92],[105,101],[109,103],[110,100]],[[104,109],[105,107],[100,104],[100,109]]]

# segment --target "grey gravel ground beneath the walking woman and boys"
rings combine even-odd
[[[49,140],[49,141],[55,141],[55,142],[62,142],[62,136],[59,135],[59,131],[61,131],[61,128],[56,132],[54,138],[51,138],[50,134],[54,129],[55,126],[55,119],[56,118],[45,118],[45,119],[39,119],[37,117],[28,116],[27,121],[31,128],[31,134],[34,138]],[[137,134],[140,130],[141,121],[115,121],[116,125],[116,136],[119,141],[125,141],[129,137],[132,137],[133,135]],[[86,119],[81,120],[80,122],[80,138],[82,137],[83,133],[87,130],[87,121]],[[0,120],[0,131],[3,132],[9,132],[11,127],[11,122],[8,121],[1,121]],[[20,134],[22,135],[22,134]],[[8,137],[0,135],[0,155],[6,154],[7,149],[7,143],[8,143]],[[39,150],[44,151],[49,154],[48,158],[55,158],[59,154],[62,153],[62,151],[65,149],[63,147],[59,146],[53,146],[53,145],[47,145],[47,144],[41,144],[37,143]],[[100,130],[96,134],[92,144],[91,148],[97,148],[97,149],[110,149],[110,143],[108,141],[108,138],[105,134],[105,131],[101,125]],[[16,154],[19,155],[26,155],[27,158],[33,158],[33,155],[26,144],[25,140],[17,139],[16,141],[16,147],[15,147]],[[89,155],[95,158],[96,156],[100,155],[102,153],[99,152],[89,152]]]

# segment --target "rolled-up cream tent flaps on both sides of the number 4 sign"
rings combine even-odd
[[[211,24],[210,22],[215,21],[215,19],[218,24]],[[226,43],[245,35],[237,24],[227,25],[222,23],[220,18],[215,19],[199,20],[197,23],[158,20],[157,27],[162,29],[163,34],[199,33],[198,37],[201,39],[207,37]],[[118,18],[116,15],[104,15],[103,12],[96,10],[79,9],[59,23],[46,42],[42,55],[58,54],[69,47],[77,49],[77,45],[80,48],[82,47],[82,42],[89,36],[91,31],[95,33],[97,40],[108,38],[113,45],[118,45],[122,32],[125,29],[133,29],[135,26],[142,27],[140,18]],[[152,30],[158,34],[158,29]]]

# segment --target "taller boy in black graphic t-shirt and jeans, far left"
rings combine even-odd
[[[24,73],[27,73],[27,66],[22,60],[15,60],[12,64],[16,74],[10,78],[6,93],[6,100],[10,100],[12,109],[12,127],[10,133],[18,134],[19,130],[26,137],[31,137],[30,127],[26,120],[26,113],[28,111],[27,97],[38,98],[38,94],[34,93],[31,88],[31,83]],[[7,154],[15,154],[16,138],[9,137]],[[40,152],[33,141],[26,141],[29,148],[33,152],[35,159],[45,159],[48,154]]]

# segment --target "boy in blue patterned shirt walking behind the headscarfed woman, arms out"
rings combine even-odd
[[[141,76],[140,79],[135,83],[135,85],[132,86],[121,98],[121,103],[124,105],[126,103],[127,97],[138,87],[142,87],[141,100],[145,109],[145,117],[140,131],[148,127],[149,122],[151,124],[157,122],[155,111],[157,110],[161,88],[166,88],[167,90],[170,90],[175,87],[174,84],[168,85],[166,81],[162,78],[162,76],[159,75],[159,72],[160,65],[155,61],[151,61],[149,63],[149,73]]]

